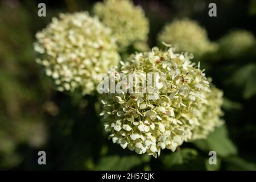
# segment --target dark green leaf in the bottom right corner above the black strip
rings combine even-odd
[[[226,170],[239,170],[239,171],[255,171],[256,166],[253,163],[246,162],[244,159],[239,157],[232,157],[225,159]]]

